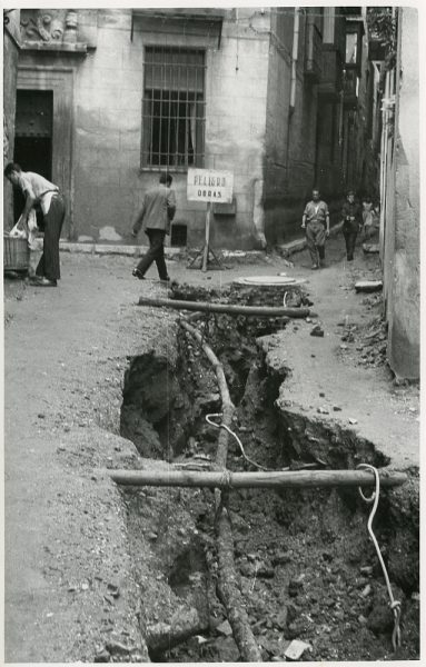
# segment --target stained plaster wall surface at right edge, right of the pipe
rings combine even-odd
[[[419,96],[417,11],[400,10],[396,109],[395,231],[387,316],[388,358],[396,376],[419,377]]]

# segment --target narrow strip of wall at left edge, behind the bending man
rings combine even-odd
[[[17,76],[19,58],[19,14],[12,10],[9,23],[3,28],[3,166],[13,160],[14,113],[17,106]],[[3,177],[4,179],[4,177]],[[13,227],[13,193],[3,180],[3,229]]]

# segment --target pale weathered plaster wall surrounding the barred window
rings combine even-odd
[[[262,180],[268,26],[254,9],[238,12],[238,21],[235,12],[227,12],[218,48],[217,36],[146,32],[142,21],[135,22],[131,40],[130,10],[99,10],[97,48],[76,70],[77,238],[125,239],[146,188],[158,181],[157,171],[140,170],[143,48],[167,43],[208,48],[205,166],[234,171],[237,200],[235,217],[216,217],[211,241],[252,247],[256,193]],[[252,28],[256,21],[259,32]],[[188,226],[188,245],[199,246],[206,205],[188,202],[186,173],[171,173],[175,221]]]

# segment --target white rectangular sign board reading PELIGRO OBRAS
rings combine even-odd
[[[210,169],[188,169],[187,198],[189,201],[232,201],[234,173]]]

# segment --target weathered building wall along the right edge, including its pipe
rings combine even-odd
[[[387,72],[382,161],[382,260],[388,360],[396,377],[420,372],[420,175],[417,10],[398,8],[396,66]]]

